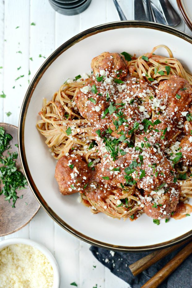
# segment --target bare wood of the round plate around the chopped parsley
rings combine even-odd
[[[0,123],[0,126],[5,129],[6,133],[11,134],[13,137],[10,141],[10,152],[18,153],[16,166],[18,168],[20,167],[20,171],[23,173],[19,148],[15,146],[15,144],[18,144],[18,127],[7,123]],[[3,184],[1,183],[0,188],[2,188],[2,186]],[[3,194],[0,195],[0,236],[11,234],[23,228],[40,208],[40,204],[29,186],[26,186],[26,189],[18,190],[17,196],[19,198],[15,202],[15,208],[12,208],[12,202],[9,203],[5,201],[5,196]]]

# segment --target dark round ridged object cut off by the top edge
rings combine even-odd
[[[91,0],[49,0],[55,11],[64,15],[76,15],[89,6]]]

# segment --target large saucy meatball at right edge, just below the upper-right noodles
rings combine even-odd
[[[192,87],[187,80],[171,76],[170,79],[160,82],[156,98],[161,101],[161,105],[167,106],[165,112],[177,125],[183,122],[181,113],[188,111],[192,102]]]

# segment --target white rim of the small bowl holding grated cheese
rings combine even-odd
[[[59,288],[60,284],[60,275],[59,275],[59,266],[54,258],[54,256],[51,254],[51,252],[43,245],[32,241],[30,239],[25,238],[9,238],[6,240],[3,240],[0,242],[0,251],[4,249],[5,247],[8,247],[13,244],[25,244],[29,246],[33,246],[34,248],[41,251],[46,258],[49,260],[52,268],[53,268],[53,285],[51,288]]]

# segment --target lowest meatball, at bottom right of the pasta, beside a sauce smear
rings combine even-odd
[[[156,193],[145,191],[142,202],[145,205],[143,210],[149,217],[168,218],[179,202],[179,188],[177,185],[171,185],[159,189]]]

